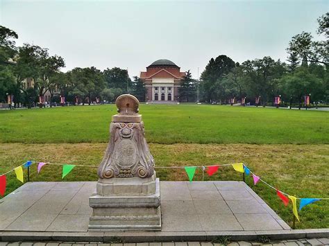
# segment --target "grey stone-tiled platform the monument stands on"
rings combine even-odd
[[[28,182],[0,200],[0,234],[87,233],[92,212],[88,200],[95,188],[96,182]],[[290,229],[244,182],[160,182],[160,189],[162,231],[158,236],[178,233],[205,238],[208,232],[261,234]]]

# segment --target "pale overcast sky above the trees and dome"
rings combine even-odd
[[[0,0],[0,24],[65,59],[66,67],[121,67],[139,76],[158,59],[181,71],[210,58],[285,60],[293,35],[316,36],[329,1],[14,1]]]

